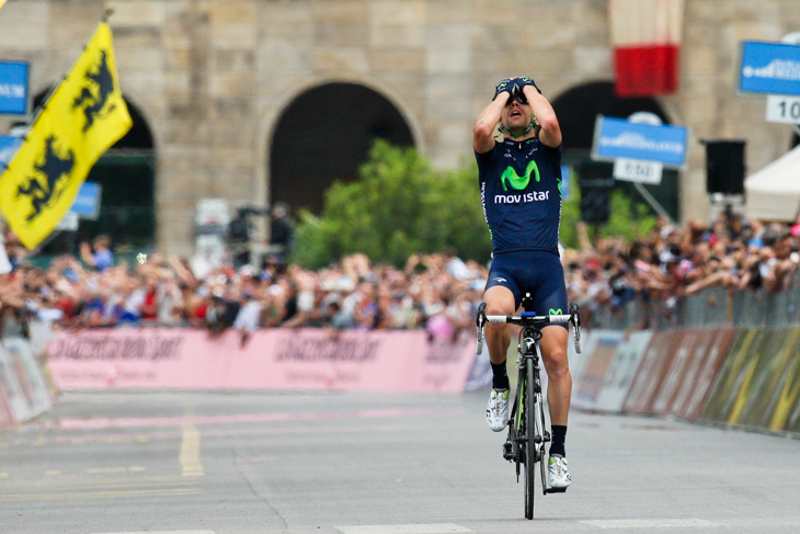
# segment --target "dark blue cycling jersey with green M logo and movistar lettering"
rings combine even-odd
[[[548,147],[538,137],[506,139],[475,156],[494,254],[524,250],[558,254],[561,146]]]

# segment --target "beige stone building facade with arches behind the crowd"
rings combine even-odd
[[[310,88],[373,89],[448,167],[471,156],[475,117],[499,79],[533,76],[551,99],[613,79],[607,0],[9,0],[0,58],[30,61],[42,91],[106,7],[123,92],[153,136],[158,247],[179,253],[194,246],[198,200],[268,205],[276,124]],[[679,91],[656,99],[690,127],[684,217],[708,216],[699,139],[746,139],[750,172],[790,147],[791,127],[765,121],[763,98],[736,94],[736,68],[741,41],[797,30],[798,0],[686,0]]]

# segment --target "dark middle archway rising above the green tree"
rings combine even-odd
[[[378,92],[340,82],[302,92],[286,106],[273,134],[271,202],[319,214],[333,182],[357,180],[377,138],[413,145],[400,111]]]

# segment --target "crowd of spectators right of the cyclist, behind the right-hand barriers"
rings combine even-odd
[[[592,245],[583,224],[579,236],[581,247],[564,251],[562,263],[568,294],[587,315],[614,314],[631,300],[662,302],[668,311],[681,297],[709,287],[780,293],[789,289],[800,263],[800,224],[765,225],[730,211],[710,225],[660,219],[647,239],[632,242]]]

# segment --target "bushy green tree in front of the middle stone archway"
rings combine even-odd
[[[294,261],[320,268],[364,252],[375,262],[402,265],[412,253],[455,247],[464,259],[489,260],[477,168],[437,170],[413,148],[377,141],[361,180],[334,183],[322,214],[304,211]]]

